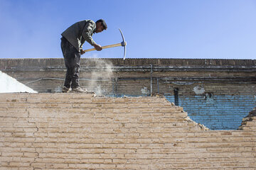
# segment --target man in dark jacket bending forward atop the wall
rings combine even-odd
[[[61,35],[61,50],[65,60],[65,67],[67,72],[65,75],[65,82],[63,86],[63,93],[67,93],[72,89],[72,92],[85,93],[79,85],[79,69],[80,69],[80,56],[85,52],[82,50],[82,45],[85,41],[95,47],[97,51],[102,50],[93,39],[94,33],[100,33],[107,30],[107,24],[104,20],[100,19],[96,23],[92,20],[84,20],[74,23]]]

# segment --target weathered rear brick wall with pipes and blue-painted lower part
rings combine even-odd
[[[60,92],[65,77],[63,59],[0,60],[0,69],[44,93]],[[175,102],[178,89],[177,105],[211,130],[236,130],[256,106],[256,60],[81,60],[81,86],[105,96],[150,96],[151,78],[153,93]]]

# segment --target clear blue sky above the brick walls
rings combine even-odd
[[[103,18],[100,45],[127,58],[256,59],[255,0],[0,0],[0,58],[60,58],[60,34]],[[89,49],[87,42],[84,49]],[[82,57],[122,58],[122,47]]]

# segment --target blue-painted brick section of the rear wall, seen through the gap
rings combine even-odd
[[[174,96],[166,96],[174,103]],[[256,106],[255,96],[179,96],[179,106],[196,123],[210,130],[237,130]]]

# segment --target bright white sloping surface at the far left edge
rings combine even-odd
[[[14,93],[14,92],[28,92],[28,93],[38,93],[30,87],[21,84],[13,77],[0,71],[0,93]]]

